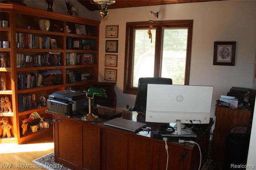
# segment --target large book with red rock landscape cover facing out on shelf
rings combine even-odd
[[[61,69],[40,70],[39,73],[43,76],[43,86],[52,86],[63,84]]]

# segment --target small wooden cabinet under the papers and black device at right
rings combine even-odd
[[[250,125],[251,110],[232,110],[217,106],[215,108],[215,128],[211,144],[211,158],[216,163],[223,163],[226,136],[236,126]]]

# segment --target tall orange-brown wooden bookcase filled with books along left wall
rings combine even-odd
[[[0,138],[0,143],[24,143],[53,132],[50,126],[32,133],[28,126],[28,135],[21,133],[21,120],[31,113],[52,117],[45,113],[47,106],[39,106],[41,96],[66,89],[83,91],[98,82],[100,22],[13,4],[1,4],[0,13],[1,20],[9,21],[9,27],[0,27],[0,40],[10,42],[9,48],[0,48],[7,58],[7,67],[0,68],[6,75],[6,90],[0,97],[9,97],[13,111],[0,113],[12,125],[12,137]],[[42,19],[49,20],[48,31],[40,29]],[[85,32],[76,34],[76,29]]]

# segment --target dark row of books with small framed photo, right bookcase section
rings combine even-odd
[[[66,49],[96,50],[95,40],[71,37],[67,37],[66,40]]]

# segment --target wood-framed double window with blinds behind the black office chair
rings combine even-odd
[[[148,27],[152,24],[152,43]],[[124,93],[137,94],[140,77],[188,84],[192,20],[126,23]]]

